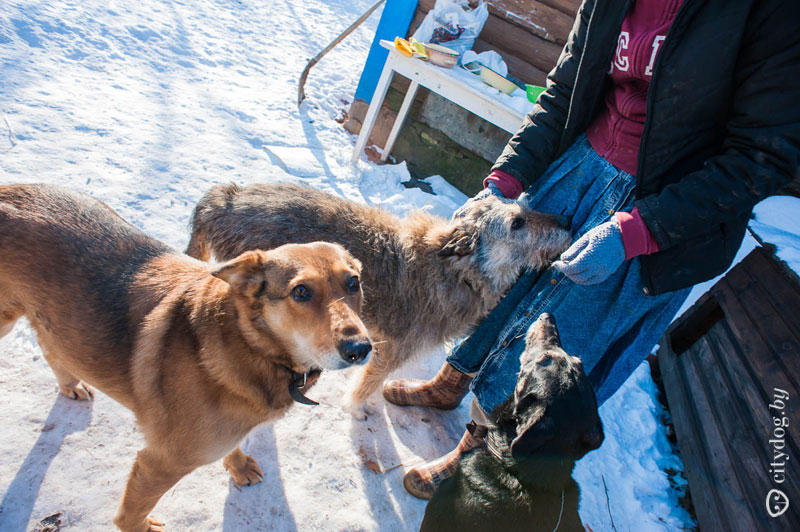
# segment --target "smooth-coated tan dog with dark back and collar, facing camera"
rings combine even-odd
[[[225,457],[238,484],[261,470],[237,445],[287,411],[321,369],[362,362],[360,264],[341,246],[289,245],[209,265],[170,250],[89,196],[0,186],[0,336],[26,316],[61,392],[96,386],[133,410],[147,446],[114,522],[148,513],[196,467]]]

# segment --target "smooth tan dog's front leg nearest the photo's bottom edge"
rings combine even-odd
[[[164,523],[147,514],[168,489],[194,469],[178,465],[150,447],[139,451],[114,524],[123,532],[162,532]]]

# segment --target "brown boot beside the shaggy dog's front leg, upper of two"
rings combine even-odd
[[[469,391],[472,377],[461,373],[445,362],[439,373],[429,381],[401,379],[383,385],[383,396],[400,406],[432,406],[452,410],[461,404]]]

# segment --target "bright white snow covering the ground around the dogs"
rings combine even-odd
[[[0,183],[88,192],[178,249],[194,204],[217,183],[300,181],[401,215],[449,216],[466,198],[440,177],[429,179],[432,196],[401,185],[404,164],[349,164],[354,139],[335,119],[377,15],[312,69],[308,102],[295,105],[306,58],[372,3],[6,0]],[[443,358],[438,350],[402,374],[430,377]],[[425,503],[405,492],[397,466],[449,451],[469,398],[438,412],[374,397],[376,413],[355,421],[340,408],[351,378],[324,374],[309,394],[321,406],[298,405],[248,436],[264,482],[238,488],[213,463],[169,490],[154,515],[170,530],[416,530]],[[68,530],[111,529],[143,445],[133,415],[102,393],[92,404],[61,397],[24,321],[0,339],[0,393],[0,530],[54,512]],[[610,529],[609,508],[620,531],[693,526],[670,484],[680,477],[666,472],[682,466],[655,395],[642,366],[601,409],[606,441],[575,473],[595,531]]]

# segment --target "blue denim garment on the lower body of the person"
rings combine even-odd
[[[636,178],[600,157],[582,135],[520,201],[571,216],[579,238],[615,211],[632,210],[635,188]],[[564,350],[581,358],[602,404],[652,350],[690,291],[648,297],[643,288],[637,258],[596,285],[576,284],[552,268],[527,271],[447,361],[478,373],[471,388],[491,413],[514,391],[528,327],[549,312]]]

